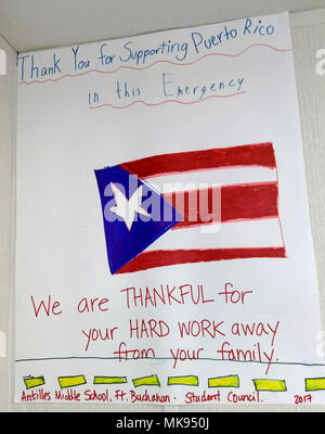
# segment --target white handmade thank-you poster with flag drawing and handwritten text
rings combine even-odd
[[[287,13],[21,53],[16,176],[17,403],[324,403]]]

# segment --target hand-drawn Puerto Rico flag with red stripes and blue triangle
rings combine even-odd
[[[272,143],[154,155],[95,170],[95,175],[112,273],[191,263],[286,257]],[[127,183],[130,176],[138,183],[121,199],[115,186]],[[211,186],[219,186],[217,213],[211,206],[216,191]],[[140,193],[136,200],[135,190]],[[143,192],[143,197],[147,196],[148,190],[161,205],[170,206],[169,221],[150,219],[151,208],[141,199]],[[205,208],[198,204],[203,192],[207,197]],[[142,218],[107,221],[108,201],[113,204],[109,212],[117,214],[119,202],[133,202],[134,213],[129,220],[133,220],[132,216]]]

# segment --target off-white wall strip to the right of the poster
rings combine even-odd
[[[323,24],[294,28],[292,46],[323,330],[325,330],[325,75],[320,76],[315,71],[316,51],[325,49],[325,16]]]

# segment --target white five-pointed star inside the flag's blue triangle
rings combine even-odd
[[[143,186],[140,186],[130,199],[127,199],[125,194],[113,182],[110,182],[110,187],[116,205],[112,206],[109,210],[117,214],[125,220],[125,224],[129,231],[131,230],[133,221],[135,219],[135,213],[150,217],[150,214],[141,206]]]

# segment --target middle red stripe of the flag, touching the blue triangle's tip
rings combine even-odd
[[[213,221],[225,222],[278,216],[277,182],[221,187],[221,214],[220,209],[216,209],[216,205],[220,206],[220,203],[217,203],[213,209],[212,193],[212,188],[209,188],[164,194],[164,199],[183,216],[183,220],[179,221],[172,230],[209,225]],[[200,204],[200,201],[205,203]]]

